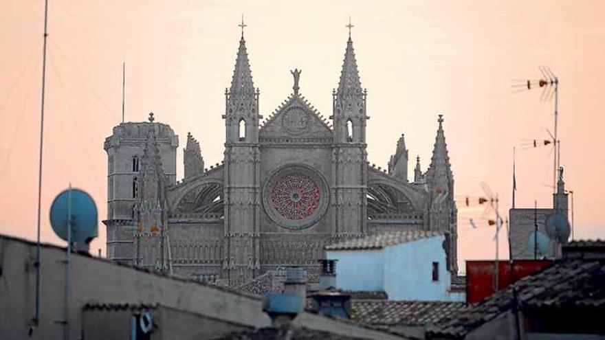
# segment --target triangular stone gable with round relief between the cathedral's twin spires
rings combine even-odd
[[[290,95],[261,127],[260,137],[331,137],[330,126],[305,97]]]

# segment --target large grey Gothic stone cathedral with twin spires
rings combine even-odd
[[[188,134],[181,181],[179,139],[170,126],[151,113],[148,122],[113,128],[104,141],[109,259],[234,286],[284,265],[313,275],[324,247],[346,238],[430,229],[446,234],[448,269],[456,273],[457,211],[443,117],[428,169],[417,158],[410,180],[404,135],[388,170],[368,161],[368,94],[351,36],[329,120],[300,93],[300,71],[291,72],[292,94],[263,117],[242,34],[225,90],[223,162],[205,169],[199,142]]]

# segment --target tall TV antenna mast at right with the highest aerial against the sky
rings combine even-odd
[[[542,73],[542,78],[539,79],[529,79],[529,80],[514,80],[516,84],[513,84],[512,87],[515,89],[513,93],[518,93],[522,91],[529,91],[531,89],[539,89],[542,88],[542,94],[540,95],[540,100],[544,102],[550,101],[553,96],[555,98],[555,126],[554,126],[554,134],[551,134],[554,159],[553,159],[553,192],[556,190],[557,185],[557,169],[560,166],[560,149],[558,148],[559,139],[558,139],[558,104],[559,104],[559,78],[555,76],[555,74],[551,71],[550,67],[540,65],[538,66],[540,73]],[[546,145],[546,144],[544,144]]]

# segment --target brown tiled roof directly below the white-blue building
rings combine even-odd
[[[463,307],[463,302],[351,300],[351,319],[373,326],[425,326]]]

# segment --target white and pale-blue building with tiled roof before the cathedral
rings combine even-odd
[[[337,260],[336,288],[384,291],[391,300],[464,301],[452,291],[448,235],[439,231],[396,231],[326,247]]]

